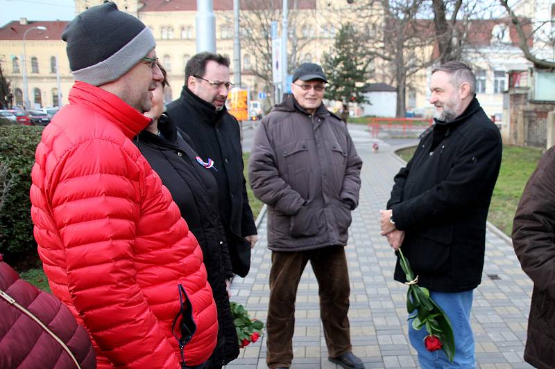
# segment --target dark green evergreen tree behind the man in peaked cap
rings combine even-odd
[[[323,53],[322,66],[329,82],[325,98],[345,104],[366,102],[362,90],[369,77],[370,58],[360,37],[355,26],[343,24],[335,37],[332,51]]]

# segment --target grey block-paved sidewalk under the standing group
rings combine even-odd
[[[360,203],[352,213],[345,249],[351,285],[353,352],[366,368],[418,368],[407,337],[407,287],[393,280],[395,255],[387,240],[379,235],[379,210],[386,204],[393,176],[402,163],[392,154],[395,146],[379,141],[379,152],[373,153],[370,135],[357,127],[350,130],[364,161]],[[264,217],[259,236],[250,273],[232,283],[232,300],[243,304],[251,316],[266,321],[271,252],[266,248]],[[472,308],[477,368],[531,368],[522,361],[531,289],[531,280],[520,269],[511,244],[488,230],[484,276],[475,290]],[[291,368],[338,368],[327,361],[318,285],[310,265],[300,280],[295,317]],[[267,368],[265,336],[242,349],[239,358],[226,368]]]

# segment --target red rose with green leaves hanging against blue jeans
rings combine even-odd
[[[425,287],[417,285],[418,276],[414,277],[409,261],[399,251],[399,262],[404,272],[405,278],[409,282],[409,291],[407,291],[407,311],[409,312],[409,320],[412,319],[412,327],[415,330],[426,328],[428,335],[424,339],[424,345],[428,351],[443,350],[447,355],[447,359],[451,362],[455,355],[455,340],[453,336],[453,328],[451,322],[445,312],[436,304],[429,296],[429,291]],[[413,314],[416,310],[416,313]]]

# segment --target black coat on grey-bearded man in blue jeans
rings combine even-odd
[[[436,120],[395,176],[387,208],[406,232],[401,249],[420,286],[461,292],[481,282],[501,154],[499,129],[474,98],[452,122]],[[405,282],[399,261],[395,280]]]

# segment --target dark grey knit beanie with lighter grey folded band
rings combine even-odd
[[[80,13],[62,39],[75,79],[94,86],[117,80],[156,46],[151,30],[112,2]]]

